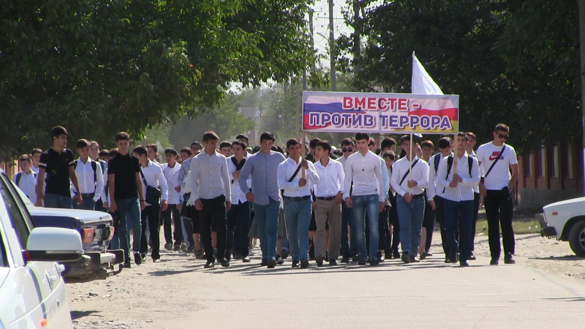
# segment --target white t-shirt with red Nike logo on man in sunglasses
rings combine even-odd
[[[487,173],[495,159],[500,154],[503,147],[506,147],[500,160],[491,169],[490,174],[484,180],[484,186],[487,190],[501,190],[508,186],[512,174],[510,173],[510,165],[517,165],[518,158],[516,157],[516,150],[512,146],[504,144],[503,146],[495,146],[493,142],[485,143],[477,149],[476,157],[481,166],[483,173]]]

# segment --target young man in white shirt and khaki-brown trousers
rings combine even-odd
[[[327,140],[321,140],[315,148],[315,155],[319,161],[315,163],[315,170],[319,181],[314,182],[315,201],[312,204],[315,211],[315,259],[317,266],[322,266],[326,251],[329,251],[329,265],[337,265],[341,246],[341,202],[343,201],[343,183],[345,172],[340,162],[329,158],[331,145]],[[329,223],[329,244],[325,248],[325,223]]]

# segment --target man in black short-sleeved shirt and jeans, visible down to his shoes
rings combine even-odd
[[[110,212],[118,211],[120,221],[118,223],[118,238],[120,247],[124,251],[126,268],[130,267],[130,229],[134,230],[134,262],[142,264],[140,256],[140,237],[142,235],[142,220],[140,211],[144,210],[146,203],[139,200],[143,196],[142,179],[140,178],[140,164],[138,158],[128,152],[130,136],[126,132],[116,135],[118,154],[112,157],[108,163],[108,190]]]

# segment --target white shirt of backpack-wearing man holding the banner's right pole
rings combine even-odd
[[[457,187],[449,187],[449,183],[453,180],[453,172],[455,171],[453,170],[453,165],[451,165],[451,169],[447,173],[449,157],[441,160],[436,181],[437,189],[445,189],[443,198],[451,201],[469,201],[474,199],[473,186],[479,184],[479,162],[477,162],[475,157],[472,157],[472,173],[469,174],[468,158],[469,156],[466,152],[462,157],[457,159],[457,174],[459,174],[463,181],[462,183],[457,183]]]

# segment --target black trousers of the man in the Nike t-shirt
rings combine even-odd
[[[502,240],[504,253],[515,253],[514,228],[512,228],[512,217],[514,217],[514,200],[508,187],[501,190],[487,190],[483,198],[486,206],[487,232],[490,241],[490,253],[492,258],[500,258],[500,225],[502,227]]]

